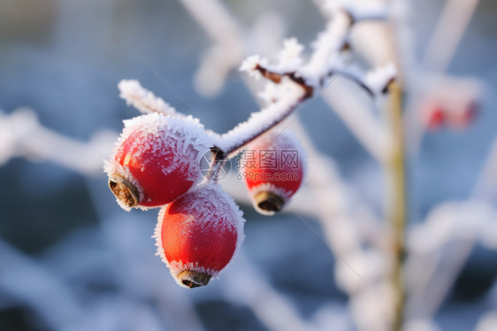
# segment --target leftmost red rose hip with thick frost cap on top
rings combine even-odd
[[[126,120],[105,165],[111,191],[126,210],[170,203],[202,180],[200,158],[211,145],[191,117],[151,113]]]

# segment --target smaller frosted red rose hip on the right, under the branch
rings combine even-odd
[[[302,184],[303,158],[300,143],[286,132],[267,133],[244,150],[240,176],[257,212],[272,215],[287,204]]]

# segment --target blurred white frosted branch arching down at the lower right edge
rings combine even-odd
[[[409,232],[406,273],[412,308],[434,315],[475,242],[495,250],[496,238],[497,210],[491,204],[468,201],[433,209],[424,223]],[[450,253],[442,256],[440,252],[447,247]]]

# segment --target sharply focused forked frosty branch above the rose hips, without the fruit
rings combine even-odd
[[[261,112],[254,113],[244,123],[222,135],[225,140],[222,148],[228,155],[233,155],[245,144],[264,134],[276,126],[294,111],[304,100],[313,95],[315,89],[323,88],[327,79],[333,74],[345,74],[358,82],[371,96],[386,92],[388,84],[394,80],[394,66],[380,69],[365,78],[361,73],[347,70],[347,65],[340,63],[339,53],[348,36],[348,29],[353,20],[346,12],[339,12],[326,27],[323,34],[314,44],[314,52],[310,61],[302,65],[301,53],[303,46],[295,39],[284,43],[284,49],[279,53],[279,64],[269,65],[268,61],[259,56],[249,57],[243,62],[240,70],[248,72],[256,79],[264,77],[275,84],[285,84],[283,89],[266,89],[264,98],[274,101]],[[291,82],[294,84],[292,85]],[[302,88],[299,92],[294,87]],[[272,95],[272,93],[274,95]],[[279,93],[278,93],[279,92]],[[268,96],[269,94],[269,96]]]

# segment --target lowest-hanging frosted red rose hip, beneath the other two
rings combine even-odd
[[[159,212],[157,255],[180,286],[205,286],[233,258],[243,241],[242,212],[221,187],[209,182]]]

